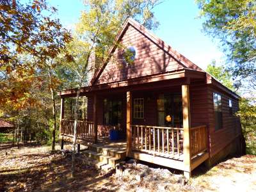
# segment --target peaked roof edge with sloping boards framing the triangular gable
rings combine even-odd
[[[116,35],[115,41],[114,41],[113,45],[111,46],[111,48],[108,51],[108,57],[106,58],[106,60],[103,61],[102,66],[99,68],[99,70],[97,70],[97,72],[93,76],[93,78],[90,82],[90,86],[95,84],[97,79],[99,79],[100,74],[102,74],[104,68],[108,64],[108,61],[111,58],[113,52],[115,52],[115,49],[117,48],[118,42],[120,42],[120,40],[122,40],[122,37],[124,36],[124,34],[127,31],[129,26],[132,26],[133,28],[140,31],[140,33],[143,33],[143,35],[147,36],[147,38],[150,39],[152,42],[154,42],[154,44],[158,45],[159,47],[161,47],[161,49],[163,49],[165,52],[170,54],[170,56],[172,56],[172,58],[174,60],[176,60],[178,63],[180,63],[180,65],[182,65],[182,67],[197,70],[197,71],[200,71],[200,72],[205,72],[204,70],[202,70],[202,68],[195,65],[195,63],[188,60],[182,54],[180,54],[179,52],[172,49],[172,47],[170,47],[170,45],[166,44],[163,40],[161,40],[160,38],[158,38],[157,36],[152,34],[150,31],[148,31],[147,28],[145,28],[144,26],[139,24],[136,20],[128,18],[125,21],[122,29]]]

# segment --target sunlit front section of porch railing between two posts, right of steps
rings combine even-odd
[[[179,159],[183,154],[183,129],[131,125],[131,145],[131,150]]]

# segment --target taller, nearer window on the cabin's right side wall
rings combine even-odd
[[[222,109],[221,109],[221,95],[213,93],[215,130],[222,128]]]

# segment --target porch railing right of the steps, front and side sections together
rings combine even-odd
[[[182,159],[183,128],[131,125],[131,150],[146,152],[154,156]],[[205,125],[189,129],[191,158],[207,151],[207,129]]]

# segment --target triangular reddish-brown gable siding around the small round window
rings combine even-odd
[[[116,49],[108,65],[100,75],[96,84],[110,83],[134,77],[148,76],[183,68],[159,45],[154,44],[147,36],[129,26],[122,40],[124,47],[136,47],[134,63],[123,61],[122,49]]]

